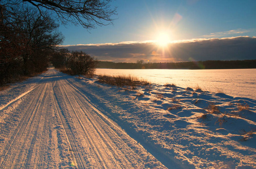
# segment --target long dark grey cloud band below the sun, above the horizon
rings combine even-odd
[[[114,62],[256,59],[256,37],[193,39],[173,42],[165,48],[157,46],[152,41],[62,47],[71,51],[84,51],[98,60]]]

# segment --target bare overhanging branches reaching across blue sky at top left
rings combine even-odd
[[[116,8],[110,7],[110,2],[112,0],[1,0],[0,10],[1,6],[12,8],[30,3],[42,16],[45,16],[43,11],[51,11],[63,24],[80,24],[88,29],[95,28],[95,24],[102,26],[112,23]]]

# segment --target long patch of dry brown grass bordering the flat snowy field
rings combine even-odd
[[[141,80],[138,77],[134,77],[131,75],[117,75],[117,76],[107,76],[107,75],[99,75],[99,82],[106,83],[113,86],[147,86],[151,83],[146,80]]]

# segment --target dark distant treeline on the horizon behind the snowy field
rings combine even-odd
[[[256,68],[256,60],[208,60],[188,61],[179,63],[113,63],[99,61],[97,68],[108,69],[253,69]]]

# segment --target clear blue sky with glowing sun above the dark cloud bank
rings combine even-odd
[[[72,50],[86,52],[88,46],[79,48],[74,46],[102,43],[119,45],[120,42],[127,41],[134,44],[144,41],[146,43],[157,40],[160,33],[165,33],[168,41],[241,36],[248,36],[255,40],[256,36],[255,0],[116,0],[112,2],[112,6],[117,7],[118,14],[113,16],[115,19],[113,25],[97,26],[96,29],[91,30],[86,30],[82,26],[61,25],[59,30],[65,36],[63,45],[73,45],[73,47],[69,46]],[[92,56],[99,55],[94,54],[93,51],[90,52]],[[106,51],[103,53],[107,54]],[[104,60],[104,55],[99,58]],[[141,56],[147,60],[144,55],[146,54]],[[254,55],[254,51],[251,55]],[[129,57],[129,61],[132,62],[140,58],[138,55],[131,59],[131,56],[135,55],[120,57]],[[172,55],[166,57],[172,57]],[[241,56],[238,59],[244,58]],[[105,60],[126,61],[114,58]],[[169,61],[172,60],[169,59]]]

